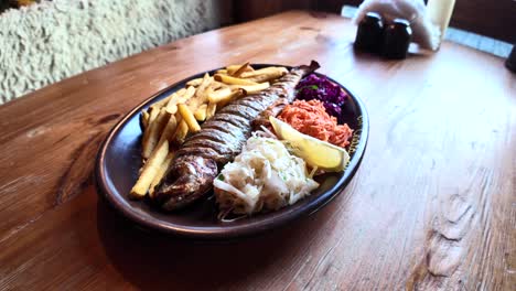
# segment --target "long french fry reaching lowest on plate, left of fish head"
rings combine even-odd
[[[163,164],[169,153],[169,142],[165,141],[160,144],[159,148],[152,153],[152,155],[147,160],[141,171],[140,177],[138,177],[137,183],[131,188],[130,197],[131,198],[142,198],[146,196],[149,186],[154,180],[155,175],[160,170],[160,165]]]

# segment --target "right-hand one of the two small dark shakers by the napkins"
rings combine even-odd
[[[410,23],[405,19],[395,19],[385,28],[381,54],[387,58],[406,58],[411,39]]]

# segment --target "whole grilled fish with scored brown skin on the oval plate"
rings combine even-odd
[[[251,134],[252,121],[269,106],[284,98],[291,103],[302,77],[319,68],[292,68],[269,88],[229,103],[187,138],[175,153],[171,168],[155,192],[155,200],[166,211],[182,208],[202,197],[213,186],[218,168],[230,162]]]

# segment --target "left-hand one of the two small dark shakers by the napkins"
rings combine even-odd
[[[358,23],[356,31],[355,48],[378,53],[381,45],[381,35],[384,33],[384,21],[378,13],[367,12]]]

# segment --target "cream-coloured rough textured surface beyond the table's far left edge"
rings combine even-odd
[[[215,29],[224,0],[55,0],[0,14],[0,104]]]

